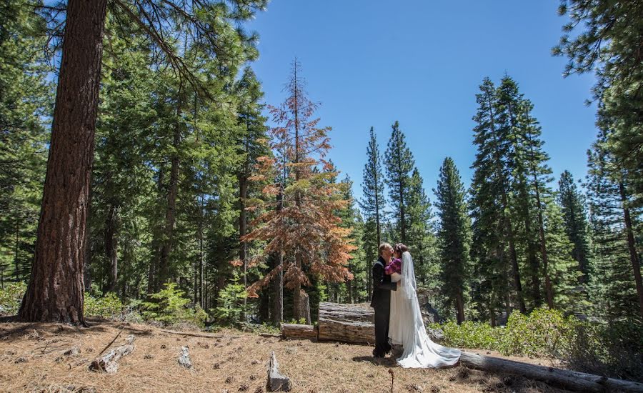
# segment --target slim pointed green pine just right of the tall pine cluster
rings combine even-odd
[[[558,204],[562,209],[567,237],[572,242],[572,256],[582,272],[580,284],[589,282],[589,233],[587,224],[587,209],[584,197],[574,183],[569,171],[563,171],[558,181]]]

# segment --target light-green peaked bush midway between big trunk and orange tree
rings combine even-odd
[[[176,283],[166,284],[165,289],[149,295],[152,302],[142,303],[144,319],[166,325],[188,322],[204,327],[208,314],[199,306],[194,309],[186,307],[190,301],[183,296],[184,292],[176,289]]]

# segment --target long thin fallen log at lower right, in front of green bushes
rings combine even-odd
[[[643,384],[639,384],[637,382],[599,377],[598,375],[555,369],[554,367],[514,362],[512,360],[481,356],[470,352],[462,352],[460,362],[463,366],[472,369],[519,374],[529,379],[537,379],[542,382],[559,384],[567,389],[572,389],[577,392],[605,392],[613,390],[643,392]]]

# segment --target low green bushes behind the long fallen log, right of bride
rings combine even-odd
[[[643,380],[643,325],[637,322],[599,324],[565,317],[552,309],[529,315],[515,311],[506,327],[487,323],[432,324],[444,332],[450,347],[493,349],[504,355],[552,357],[590,374]]]

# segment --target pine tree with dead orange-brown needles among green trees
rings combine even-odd
[[[327,282],[343,282],[352,279],[346,265],[355,247],[350,243],[350,230],[339,227],[338,210],[347,207],[341,187],[329,179],[337,176],[324,160],[330,149],[327,133],[330,127],[320,128],[319,119],[314,119],[317,104],[306,97],[301,65],[294,61],[286,91],[289,96],[280,107],[272,107],[273,120],[279,126],[271,129],[275,139],[272,146],[274,158],[259,159],[259,174],[256,180],[281,177],[281,184],[264,187],[266,198],[282,195],[281,209],[276,201],[257,201],[251,209],[261,207],[263,212],[256,227],[244,238],[246,241],[266,241],[263,254],[283,254],[284,282],[293,290],[294,318],[304,315],[302,285],[311,284],[312,277],[321,277]],[[282,175],[283,174],[283,175]],[[285,183],[285,184],[284,184]],[[264,287],[282,267],[271,270],[263,279],[252,284],[249,296]]]

